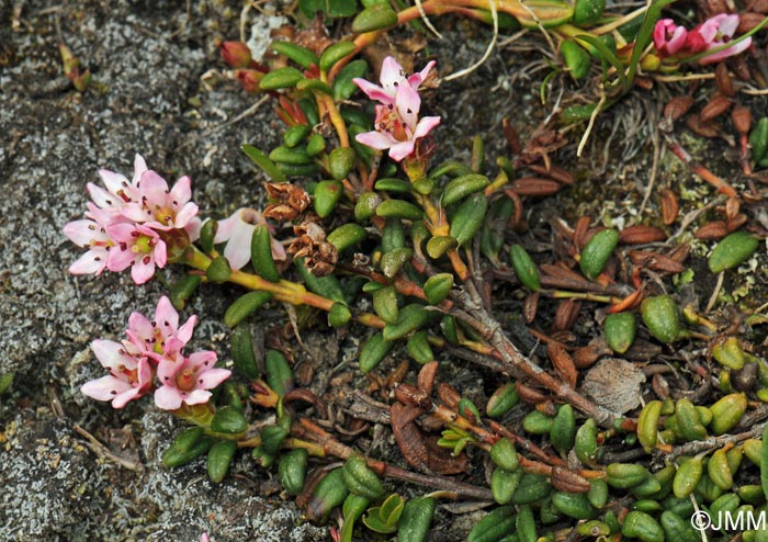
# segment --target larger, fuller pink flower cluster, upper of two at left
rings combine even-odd
[[[101,274],[104,269],[124,271],[143,284],[163,268],[169,250],[179,250],[197,238],[201,221],[192,203],[189,177],[172,189],[157,172],[147,169],[136,155],[134,177],[106,169],[99,171],[105,188],[88,183],[91,202],[86,218],[68,223],[64,234],[79,247],[88,248],[69,267],[72,274]]]

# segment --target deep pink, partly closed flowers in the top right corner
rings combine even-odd
[[[733,39],[738,27],[738,15],[721,13],[714,15],[692,31],[678,26],[671,19],[660,19],[654,27],[653,41],[662,58],[678,56],[685,59],[705,50],[721,47]],[[699,59],[699,64],[713,64],[743,53],[752,45],[752,37]]]

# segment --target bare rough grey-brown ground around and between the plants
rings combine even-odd
[[[251,110],[257,99],[236,84],[203,84],[207,70],[225,69],[216,44],[237,38],[241,2],[75,0],[52,7],[8,0],[0,5],[0,376],[13,374],[11,388],[0,395],[0,539],[190,541],[207,532],[215,542],[329,540],[327,529],[302,521],[291,499],[270,490],[275,487],[271,474],[248,454],[238,456],[218,485],[208,481],[203,460],[167,470],[159,458],[180,422],[150,402],[112,410],[79,393],[100,375],[90,341],[118,338],[131,312],[150,314],[165,293],[159,281],[136,286],[126,273],[68,274],[80,251],[61,227],[81,216],[86,182],[98,182],[99,168],[129,174],[134,154],[140,153],[169,180],[191,176],[194,201],[208,216],[227,216],[263,197],[263,177],[239,146],[275,145],[281,126],[271,104]],[[249,14],[251,21],[259,16]],[[441,74],[471,65],[490,39],[489,31],[474,23],[445,18],[439,24],[445,39],[430,42],[429,53]],[[93,74],[89,91],[77,92],[63,76],[59,42]],[[479,133],[493,159],[506,151],[502,117],[529,135],[552,111],[552,102],[542,106],[538,100],[546,74],[534,63],[540,54],[531,44],[516,47],[498,47],[473,75],[434,91],[430,106],[445,120],[440,140],[454,142],[440,151],[442,158],[467,158]],[[561,88],[573,91],[565,76],[550,88],[551,101]],[[639,93],[601,115],[586,158],[575,156],[575,145],[558,153],[558,163],[575,171],[578,182],[527,207],[534,236],[544,240],[557,215],[569,224],[580,215],[606,225],[658,221],[657,191],[639,212],[654,155],[656,133],[648,120],[658,118],[657,104],[680,89]],[[750,105],[756,114],[766,110],[764,98]],[[734,170],[723,160],[732,154],[723,140],[681,137],[699,158],[710,157],[705,162],[716,173]],[[669,154],[662,156],[655,182],[687,194],[684,213],[713,192]],[[693,247],[701,272],[690,295],[705,303],[713,287],[713,279],[703,279],[707,248]],[[729,276],[726,291],[741,289],[752,307],[764,303],[767,260],[761,248],[748,273]],[[219,316],[236,292],[212,292],[216,295],[194,297],[185,313],[201,315],[193,347],[225,357],[228,330]],[[513,296],[499,301],[505,325],[513,326],[520,304]],[[577,323],[585,337],[595,334],[592,308],[587,306]],[[332,368],[353,358],[360,340],[335,339],[338,357],[330,354],[328,339],[305,338],[316,345],[317,355],[307,359],[326,383]],[[530,336],[519,341],[526,351],[534,345]],[[383,373],[396,364],[388,363]],[[448,371],[445,377],[471,398],[481,400],[492,389],[493,381],[473,365],[458,362]],[[386,439],[361,445],[397,454]],[[476,521],[475,515],[453,516],[442,507],[438,515],[430,540],[463,540]]]

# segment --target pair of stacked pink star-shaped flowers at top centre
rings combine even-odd
[[[400,161],[414,153],[416,140],[425,137],[440,124],[439,116],[419,118],[421,98],[418,93],[429,71],[431,61],[419,74],[406,78],[403,67],[388,56],[382,64],[381,87],[365,79],[352,79],[376,105],[375,129],[359,134],[355,140],[374,149],[389,149],[389,158]]]

